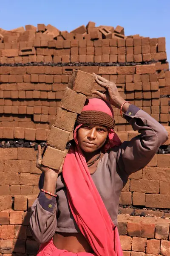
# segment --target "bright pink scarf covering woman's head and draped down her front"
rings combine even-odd
[[[101,111],[113,117],[111,106],[101,99],[89,99],[82,111]],[[74,130],[75,146],[65,158],[62,175],[68,195],[68,204],[81,233],[97,256],[122,256],[119,233],[108,214],[94,181],[91,178],[82,150],[77,142],[78,125]],[[108,143],[104,151],[120,145],[119,137],[108,130]]]

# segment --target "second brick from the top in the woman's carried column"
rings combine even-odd
[[[81,93],[76,93],[70,90],[68,87],[65,89],[63,98],[61,101],[61,108],[75,113],[81,113],[82,108],[85,104],[86,96]],[[73,104],[74,102],[74,104]]]

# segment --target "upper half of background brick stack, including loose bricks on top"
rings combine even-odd
[[[165,38],[126,37],[120,26],[92,22],[70,33],[39,24],[0,34],[0,126],[49,129],[73,69],[115,82],[125,99],[169,124]],[[117,131],[130,129],[116,109],[115,119]]]

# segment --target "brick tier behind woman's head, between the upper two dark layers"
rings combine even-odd
[[[125,67],[0,67],[0,126],[48,129],[73,69],[94,72],[115,82],[122,97],[168,125],[170,71],[164,71],[167,67],[160,62]],[[94,87],[103,90],[97,84]],[[119,110],[114,111],[115,129],[128,131],[130,126]]]

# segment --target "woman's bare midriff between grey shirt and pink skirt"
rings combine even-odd
[[[53,243],[58,249],[72,253],[94,253],[82,233],[55,233]]]

